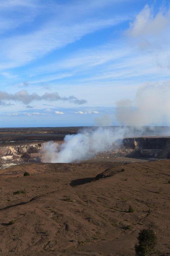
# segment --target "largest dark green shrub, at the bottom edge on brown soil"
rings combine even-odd
[[[156,252],[157,236],[152,229],[143,229],[137,237],[139,245],[135,245],[136,256],[150,256]]]

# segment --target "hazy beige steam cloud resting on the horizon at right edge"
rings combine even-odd
[[[138,89],[134,100],[117,102],[117,119],[121,125],[169,125],[170,85],[151,84]]]

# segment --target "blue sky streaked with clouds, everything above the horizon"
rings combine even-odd
[[[164,0],[0,0],[0,127],[169,125],[169,31]]]

